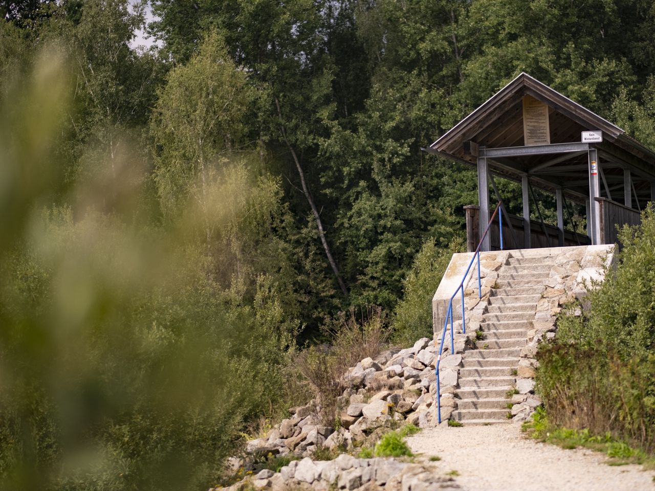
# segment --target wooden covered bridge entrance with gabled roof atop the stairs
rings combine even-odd
[[[477,168],[479,206],[466,207],[469,251],[489,223],[492,202],[502,200],[494,175],[518,181],[523,216],[508,215],[506,248],[614,244],[616,227],[640,223],[639,212],[655,201],[655,153],[618,126],[521,73],[430,147]],[[534,188],[555,195],[557,227],[530,219]],[[586,234],[565,229],[571,203],[586,209]],[[503,227],[505,228],[505,227]],[[498,224],[481,250],[500,245]]]

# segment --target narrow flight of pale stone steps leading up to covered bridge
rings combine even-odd
[[[554,265],[552,257],[510,255],[498,270],[480,323],[476,349],[466,350],[455,390],[462,424],[508,422],[521,348],[527,344],[537,302]]]

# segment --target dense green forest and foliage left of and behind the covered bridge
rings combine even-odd
[[[207,488],[343,312],[429,334],[477,192],[421,147],[521,71],[655,145],[651,0],[146,7],[0,3],[3,489]]]

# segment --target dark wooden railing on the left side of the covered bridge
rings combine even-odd
[[[466,210],[466,250],[468,252],[475,251],[477,243],[479,242],[479,208],[475,205],[465,206]],[[512,221],[514,227],[514,237],[507,223],[508,216],[502,216],[502,239],[505,249],[525,249],[525,236],[523,234],[523,217],[510,215],[509,219]],[[557,227],[553,225],[545,225],[548,236],[544,234],[544,229],[538,221],[530,221],[530,241],[531,248],[538,247],[557,247],[559,246],[559,239],[557,236]],[[500,227],[498,220],[494,220],[489,228],[491,234],[491,250],[500,250]],[[550,243],[548,242],[550,237]],[[564,245],[589,245],[591,241],[588,236],[583,234],[576,234],[571,230],[564,230]]]

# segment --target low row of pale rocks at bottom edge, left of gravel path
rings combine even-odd
[[[452,477],[439,475],[434,465],[411,464],[395,459],[358,459],[341,454],[335,460],[294,460],[275,473],[259,471],[251,480],[228,488],[210,491],[240,491],[247,484],[256,489],[291,490],[360,490],[360,491],[437,491],[460,489]]]

